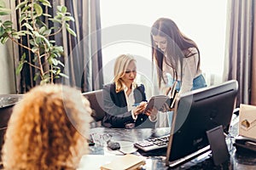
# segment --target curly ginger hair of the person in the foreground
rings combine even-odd
[[[90,113],[89,101],[77,89],[32,88],[9,119],[4,169],[75,169],[87,153]]]

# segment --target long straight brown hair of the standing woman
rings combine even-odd
[[[153,36],[166,37],[167,46],[166,46],[166,57],[163,52],[154,44]],[[152,47],[152,61],[157,65],[157,76],[159,81],[163,79],[163,60],[168,59],[166,64],[170,65],[173,69],[173,79],[177,79],[177,64],[180,63],[181,76],[183,76],[183,58],[190,57],[193,54],[189,53],[189,48],[196,48],[199,63],[197,65],[197,70],[200,68],[200,51],[196,43],[191,40],[189,37],[183,35],[183,33],[178,29],[176,23],[171,19],[160,18],[156,20],[151,27],[151,47]],[[183,54],[183,51],[186,51],[186,54]],[[164,80],[164,79],[163,79]],[[182,78],[181,78],[182,80]],[[164,80],[165,81],[165,80]]]

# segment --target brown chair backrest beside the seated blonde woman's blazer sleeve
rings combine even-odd
[[[105,116],[102,93],[102,89],[83,93],[84,97],[90,101],[90,108],[92,109],[91,116],[96,122],[102,121]]]

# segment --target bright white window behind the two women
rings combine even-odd
[[[226,3],[224,0],[102,0],[104,81],[109,82],[113,77],[113,59],[126,53],[137,55],[137,70],[149,82],[152,81],[149,32],[154,21],[160,17],[174,20],[180,30],[197,43],[201,50],[201,69],[207,82],[210,75],[221,80]]]

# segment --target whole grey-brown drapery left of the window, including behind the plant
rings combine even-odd
[[[9,0],[12,10],[12,20],[15,23],[15,29],[20,30],[19,14],[15,14],[15,6],[23,0]],[[49,14],[55,14],[57,5],[65,5],[67,12],[71,13],[75,22],[70,22],[70,27],[77,33],[77,37],[71,36],[66,30],[61,34],[55,35],[57,45],[64,48],[63,72],[69,77],[55,79],[55,83],[68,84],[81,89],[81,92],[101,89],[103,84],[102,75],[102,42],[101,42],[101,18],[100,18],[100,0],[53,0],[52,8],[45,8]],[[45,22],[50,22],[47,18]],[[21,43],[27,43],[29,37],[20,40]],[[14,53],[15,68],[20,61],[20,56],[25,52],[26,59],[32,61],[33,56],[25,49],[14,44],[12,49]],[[17,94],[25,94],[40,81],[33,81],[35,69],[30,65],[24,65],[20,75],[15,75]]]

